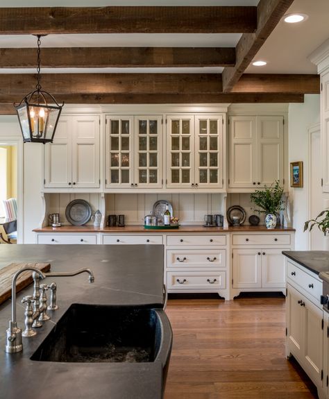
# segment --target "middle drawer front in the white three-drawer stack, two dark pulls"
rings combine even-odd
[[[167,267],[185,269],[186,267],[197,268],[222,268],[226,267],[226,250],[209,249],[206,251],[193,249],[179,249],[167,251]]]

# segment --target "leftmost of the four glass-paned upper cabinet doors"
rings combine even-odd
[[[133,117],[106,117],[106,187],[132,187]]]

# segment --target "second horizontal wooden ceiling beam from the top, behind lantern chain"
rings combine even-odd
[[[42,48],[44,68],[229,67],[230,47],[71,47]],[[37,49],[0,49],[0,68],[34,68]]]

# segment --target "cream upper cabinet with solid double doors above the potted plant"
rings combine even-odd
[[[229,187],[255,189],[284,178],[282,116],[229,119]]]

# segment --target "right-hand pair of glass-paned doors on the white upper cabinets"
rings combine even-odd
[[[223,187],[223,115],[167,115],[166,187]]]

